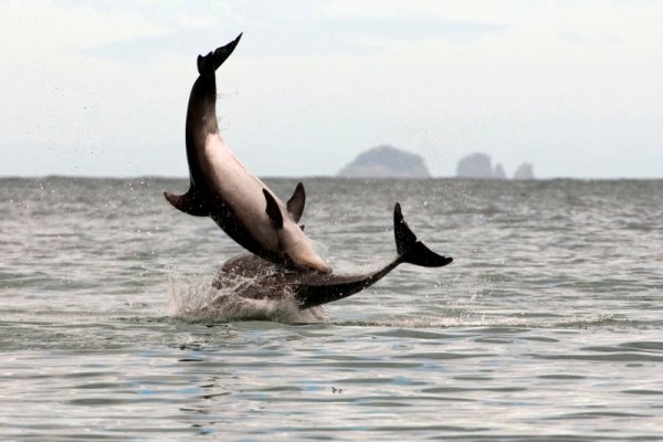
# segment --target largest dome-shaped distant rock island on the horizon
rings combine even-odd
[[[378,146],[357,156],[340,169],[344,178],[430,178],[423,158],[392,146]]]

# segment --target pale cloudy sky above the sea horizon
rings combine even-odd
[[[0,176],[186,177],[196,59],[224,139],[263,177],[370,147],[435,177],[663,177],[663,1],[0,0]]]

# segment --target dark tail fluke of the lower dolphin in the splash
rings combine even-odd
[[[424,267],[441,267],[453,261],[452,257],[442,256],[427,248],[403,219],[400,204],[393,208],[393,234],[396,236],[396,250],[402,262]]]

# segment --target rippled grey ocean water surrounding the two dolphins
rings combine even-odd
[[[241,249],[186,180],[0,183],[0,440],[663,439],[663,181],[305,179],[336,272],[396,201],[454,257],[313,312],[206,309]]]

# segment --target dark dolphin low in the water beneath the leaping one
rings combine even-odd
[[[396,259],[372,272],[348,275],[303,273],[274,265],[252,254],[241,254],[219,269],[212,286],[217,290],[229,288],[234,296],[253,299],[293,296],[299,309],[306,309],[361,292],[402,263],[441,267],[453,261],[452,257],[436,254],[417,240],[403,219],[398,202],[393,208],[393,233]],[[212,306],[220,306],[227,299],[227,296],[219,296]]]

